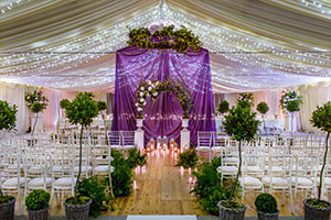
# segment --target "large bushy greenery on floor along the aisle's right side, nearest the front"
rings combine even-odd
[[[192,193],[197,197],[199,202],[207,212],[217,216],[217,202],[229,198],[229,185],[221,185],[217,167],[221,165],[221,157],[214,157],[211,163],[203,163],[197,167],[197,172],[193,172],[196,183]],[[228,180],[225,180],[226,183]],[[234,197],[238,198],[239,191],[234,193]]]

